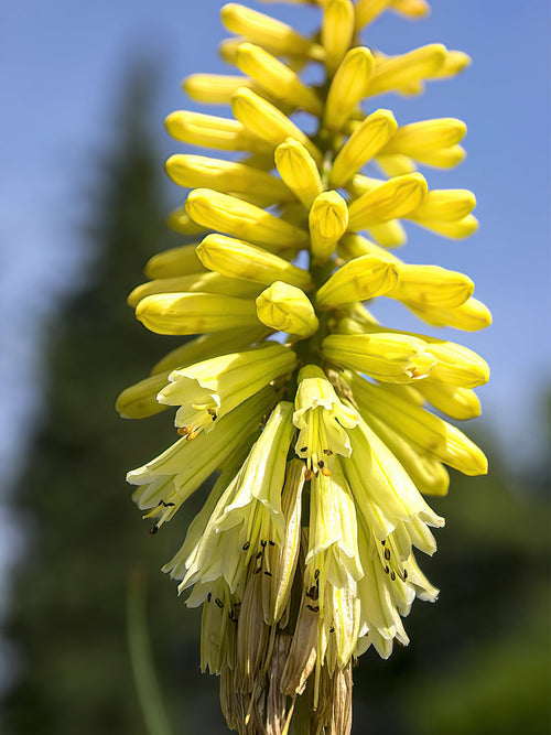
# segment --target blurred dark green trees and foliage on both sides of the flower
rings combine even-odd
[[[166,445],[170,421],[122,423],[112,408],[121,388],[177,344],[147,333],[123,303],[152,244],[180,241],[164,226],[162,156],[148,112],[154,86],[149,68],[129,76],[119,139],[86,193],[83,277],[46,328],[43,410],[9,494],[25,544],[4,605],[4,735],[145,735],[127,645],[132,574],[173,734],[226,732],[218,681],[198,672],[199,616],[159,571],[201,493],[151,537],[123,477]],[[541,396],[533,421],[542,434],[549,406]],[[432,502],[447,526],[422,566],[441,599],[413,606],[408,648],[389,661],[371,651],[360,659],[356,735],[549,732],[549,465],[536,457],[515,473],[491,425],[479,420],[467,431],[488,453],[490,474],[454,474],[450,496]]]

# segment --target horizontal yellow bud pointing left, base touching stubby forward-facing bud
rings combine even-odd
[[[255,302],[214,293],[159,293],[142,299],[136,318],[158,334],[202,334],[258,324]]]

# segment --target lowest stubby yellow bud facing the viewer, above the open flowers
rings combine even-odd
[[[276,281],[257,299],[258,318],[278,332],[311,337],[320,326],[306,294],[295,285]]]

